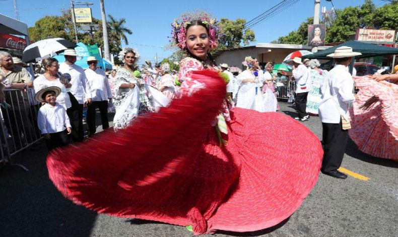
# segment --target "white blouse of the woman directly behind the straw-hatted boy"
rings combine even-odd
[[[33,87],[35,91],[39,91],[44,87],[49,86],[57,86],[61,88],[61,93],[56,97],[56,102],[62,105],[65,109],[72,107],[71,98],[69,98],[69,94],[67,93],[67,88],[61,83],[59,78],[49,81],[43,75],[38,76],[33,81]]]

